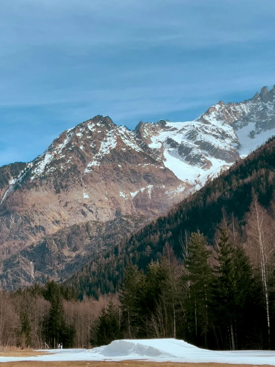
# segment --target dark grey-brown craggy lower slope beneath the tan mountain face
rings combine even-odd
[[[61,229],[0,264],[0,285],[15,290],[48,279],[60,281],[90,259],[148,224],[144,216],[122,216],[106,222],[88,221]]]

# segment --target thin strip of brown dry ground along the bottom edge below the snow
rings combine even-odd
[[[15,357],[15,356],[14,356]],[[17,356],[18,357],[18,356]],[[220,363],[170,363],[170,362],[6,362],[0,367],[253,367],[253,365],[229,365]],[[267,365],[265,365],[267,366]]]

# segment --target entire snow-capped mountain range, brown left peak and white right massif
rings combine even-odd
[[[130,131],[96,116],[32,162],[0,169],[0,248],[10,255],[88,221],[155,218],[274,134],[275,86],[191,122],[140,122]]]

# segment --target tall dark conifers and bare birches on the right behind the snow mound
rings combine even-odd
[[[214,246],[198,230],[181,239],[182,260],[167,243],[145,270],[129,265],[91,328],[91,343],[177,338],[218,350],[275,348],[275,220],[255,197],[245,240],[226,217]]]

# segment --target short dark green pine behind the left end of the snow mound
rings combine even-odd
[[[91,330],[92,331],[92,330]],[[107,309],[103,308],[96,329],[96,344],[107,345],[113,340],[121,339],[119,323],[119,310],[112,299],[109,300]],[[90,340],[94,344],[94,340]]]

